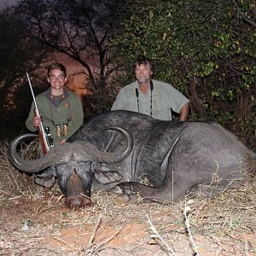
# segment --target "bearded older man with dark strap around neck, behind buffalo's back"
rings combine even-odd
[[[171,84],[151,80],[152,64],[147,58],[139,57],[134,64],[137,81],[119,91],[111,110],[131,110],[148,114],[155,119],[172,120],[172,111],[179,113],[185,121],[189,110],[189,99]]]

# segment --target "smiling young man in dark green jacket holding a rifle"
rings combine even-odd
[[[79,96],[65,88],[67,82],[66,67],[61,63],[54,63],[48,69],[48,90],[36,96],[40,117],[34,116],[35,105],[26,119],[26,128],[37,131],[40,119],[44,127],[49,127],[53,144],[65,143],[75,131],[84,123],[84,111]],[[35,178],[35,182],[50,188],[55,183],[54,167],[44,170]]]

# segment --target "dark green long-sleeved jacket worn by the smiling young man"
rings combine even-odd
[[[76,96],[72,91],[64,90],[63,99],[58,106],[55,106],[51,99],[50,88],[36,96],[36,102],[44,127],[49,126],[49,132],[54,140],[54,145],[59,143],[61,139],[71,137],[84,123],[82,102],[79,96]],[[26,128],[29,131],[37,131],[33,127],[34,108],[35,105],[32,102],[32,107],[26,119]],[[60,129],[63,129],[63,125],[67,125],[66,136],[61,134],[61,130],[61,136],[57,135],[58,125],[60,125]]]

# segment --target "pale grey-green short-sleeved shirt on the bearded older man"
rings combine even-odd
[[[172,120],[172,111],[179,113],[183,106],[189,102],[189,99],[171,84],[157,80],[152,80],[152,82],[154,88],[152,91],[148,90],[146,95],[139,89],[137,81],[126,85],[119,91],[111,110],[131,110],[150,116],[152,108],[153,118]],[[138,91],[138,96],[136,90]]]

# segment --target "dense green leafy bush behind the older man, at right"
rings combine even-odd
[[[130,66],[136,56],[147,55],[154,60],[156,79],[189,96],[192,119],[214,119],[227,125],[254,118],[253,1],[127,2],[131,18],[124,20],[123,31],[113,40],[127,80],[131,80]],[[196,96],[201,105],[194,104]]]

